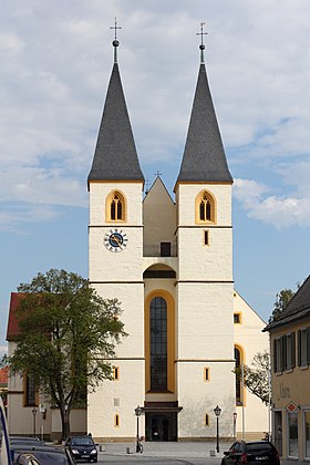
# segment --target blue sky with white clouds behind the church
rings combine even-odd
[[[309,0],[0,0],[0,351],[10,293],[87,277],[87,185],[118,65],[149,187],[172,193],[205,61],[234,177],[235,288],[264,319],[310,273]],[[173,194],[172,194],[173,195]]]

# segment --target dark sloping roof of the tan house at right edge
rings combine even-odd
[[[310,276],[289,301],[279,320],[271,321],[264,331],[272,331],[291,322],[310,318]]]

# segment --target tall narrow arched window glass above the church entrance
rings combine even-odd
[[[151,391],[167,390],[167,303],[162,297],[151,301]]]

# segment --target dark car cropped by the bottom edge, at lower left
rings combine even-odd
[[[24,445],[13,444],[11,446],[13,464],[31,464],[32,457],[40,465],[74,465],[74,458],[70,451],[61,446],[41,446],[41,445]],[[27,462],[29,457],[29,462]],[[34,462],[35,463],[35,462]],[[37,465],[37,464],[35,464]]]

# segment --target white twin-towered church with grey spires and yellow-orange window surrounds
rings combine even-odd
[[[90,281],[122,302],[128,337],[116,349],[114,380],[89,395],[87,430],[100,441],[234,436],[235,345],[248,363],[268,347],[265,323],[235,293],[231,186],[202,61],[175,200],[144,176],[123,94],[116,48],[89,175]],[[234,312],[240,323],[234,323]],[[236,317],[237,318],[237,317]],[[239,403],[239,401],[238,401]],[[238,410],[237,428],[241,431]],[[246,434],[262,436],[267,409],[246,393]]]

